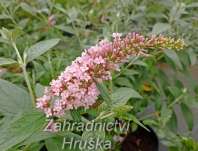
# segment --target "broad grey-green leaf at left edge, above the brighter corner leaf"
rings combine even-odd
[[[0,112],[3,115],[13,116],[32,108],[27,91],[5,80],[0,80],[0,98]]]

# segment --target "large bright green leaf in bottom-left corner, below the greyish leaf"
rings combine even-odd
[[[0,130],[0,150],[6,151],[9,148],[21,143],[32,134],[41,130],[45,117],[38,111],[30,110],[27,113],[18,114],[8,127]]]

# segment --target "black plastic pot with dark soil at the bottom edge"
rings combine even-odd
[[[135,132],[130,132],[121,144],[121,151],[159,151],[159,141],[155,132],[138,127]]]

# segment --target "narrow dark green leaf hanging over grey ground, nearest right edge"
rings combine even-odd
[[[185,121],[186,121],[186,123],[188,125],[189,130],[192,130],[193,129],[193,125],[194,125],[192,111],[184,103],[181,103],[180,107],[181,107],[182,114],[183,114],[184,119],[185,119]]]

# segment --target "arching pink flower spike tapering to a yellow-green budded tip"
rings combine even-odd
[[[47,117],[63,116],[66,110],[89,108],[100,95],[94,79],[111,79],[111,72],[130,56],[146,56],[150,50],[182,49],[182,40],[159,36],[144,37],[138,33],[123,36],[113,34],[113,40],[102,40],[85,50],[66,67],[56,80],[52,80],[44,95],[37,99],[37,108]]]

